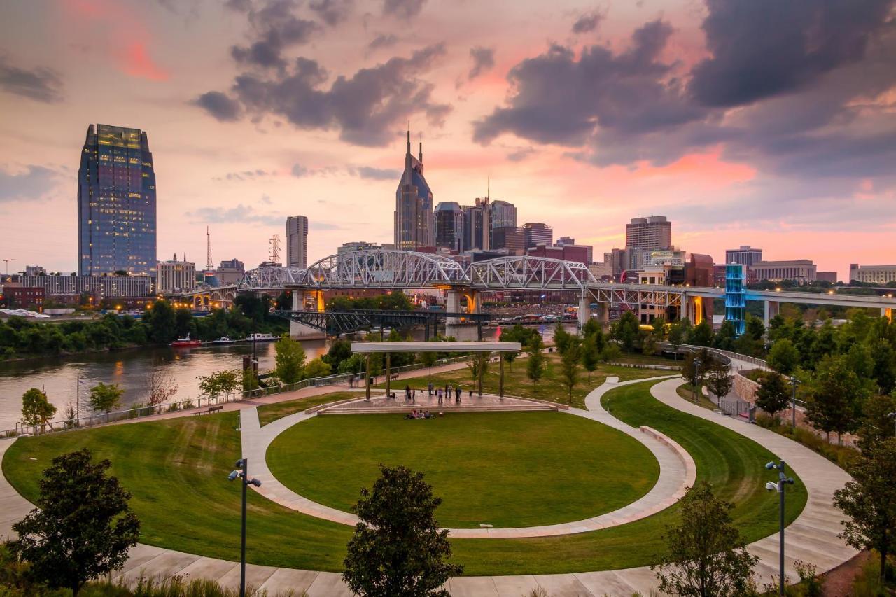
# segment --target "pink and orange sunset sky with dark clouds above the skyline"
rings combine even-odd
[[[392,242],[408,123],[435,203],[516,204],[595,255],[896,263],[893,0],[8,0],[0,258],[76,269],[91,123],[149,134],[158,255],[254,267]],[[490,180],[490,183],[487,182]]]

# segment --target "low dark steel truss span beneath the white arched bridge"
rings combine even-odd
[[[383,311],[373,309],[329,309],[327,311],[274,311],[297,324],[305,324],[331,336],[358,332],[371,327],[408,327],[421,325],[424,340],[429,340],[429,331],[436,331],[439,319],[464,318],[477,325],[478,339],[482,340],[482,324],[487,324],[491,316],[480,313],[446,313],[445,311]]]

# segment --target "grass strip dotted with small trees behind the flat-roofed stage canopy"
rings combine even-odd
[[[666,360],[666,359],[664,359]],[[669,361],[671,362],[671,361]],[[577,408],[585,408],[585,396],[603,384],[607,380],[607,376],[617,376],[620,381],[629,379],[643,379],[645,377],[656,377],[671,374],[671,371],[662,371],[657,369],[642,369],[633,367],[620,367],[618,365],[601,364],[596,371],[590,375],[584,368],[579,368],[578,383],[573,388],[572,405]],[[570,403],[569,394],[566,388],[560,382],[560,355],[556,352],[545,354],[545,373],[538,381],[538,384],[532,384],[528,376],[526,376],[526,359],[517,359],[513,365],[504,363],[504,394],[508,396],[522,396],[525,398],[537,398],[538,400],[547,400],[550,402]],[[439,373],[434,376],[427,376],[422,373],[420,376],[412,379],[401,379],[392,382],[392,388],[401,391],[405,385],[413,388],[426,388],[426,384],[432,379],[436,386],[444,386],[445,384],[460,384],[464,393],[470,391],[472,385],[472,376],[470,368],[464,367],[447,373]],[[384,384],[376,387],[383,388]],[[492,363],[488,366],[485,380],[482,384],[483,392],[487,394],[498,393],[498,364]]]

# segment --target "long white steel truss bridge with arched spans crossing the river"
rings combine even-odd
[[[305,269],[263,266],[246,272],[237,284],[239,291],[280,290],[410,290],[441,289],[461,293],[507,290],[569,290],[582,301],[601,305],[625,304],[679,307],[702,299],[722,299],[725,290],[709,287],[662,286],[598,281],[588,267],[578,262],[547,257],[506,256],[467,266],[444,255],[364,249],[331,255]],[[193,294],[201,294],[197,290]],[[206,291],[207,292],[207,291]],[[806,303],[841,307],[880,308],[892,316],[896,299],[821,292],[777,292],[748,290],[747,300],[770,303]],[[449,307],[451,308],[451,307]],[[469,315],[469,314],[465,314]]]

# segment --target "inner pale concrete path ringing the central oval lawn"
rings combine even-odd
[[[697,476],[697,467],[694,464],[694,459],[691,458],[691,454],[688,454],[684,448],[678,446],[672,439],[654,429],[641,428],[639,430],[632,428],[622,421],[611,417],[607,411],[600,409],[599,396],[612,387],[616,387],[616,385],[605,383],[597,390],[591,392],[591,394],[598,395],[596,400],[597,410],[589,403],[590,411],[569,409],[561,412],[568,412],[584,419],[597,421],[607,425],[607,427],[622,431],[641,442],[643,446],[646,446],[659,462],[659,478],[650,491],[631,504],[627,504],[613,512],[569,523],[527,527],[448,529],[449,534],[455,539],[520,539],[524,537],[548,537],[577,532],[599,531],[600,529],[632,523],[640,518],[654,515],[660,510],[665,510],[668,506],[672,506],[684,496],[685,490],[694,484],[694,479]],[[589,394],[589,398],[591,394]],[[514,400],[521,405],[527,402],[533,403],[522,399]],[[508,399],[508,403],[509,401],[510,399]],[[334,523],[354,526],[358,523],[357,515],[332,508],[331,506],[325,506],[297,494],[283,485],[268,468],[266,454],[271,446],[271,442],[285,430],[316,415],[316,412],[297,412],[260,427],[257,410],[246,409],[240,411],[240,435],[243,440],[243,454],[249,459],[251,475],[262,481],[262,487],[253,489],[264,497],[277,502],[280,506]]]

